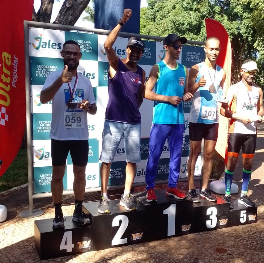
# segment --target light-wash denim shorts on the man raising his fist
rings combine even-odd
[[[104,121],[103,143],[100,161],[112,163],[117,152],[118,145],[124,138],[126,162],[138,163],[140,157],[140,124],[120,123]]]

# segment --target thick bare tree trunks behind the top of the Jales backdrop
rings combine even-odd
[[[54,24],[74,26],[90,0],[64,0]],[[32,21],[50,23],[54,0],[41,0],[40,9],[33,8]]]

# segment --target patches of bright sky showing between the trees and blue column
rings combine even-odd
[[[63,4],[64,0],[60,0],[59,2],[54,2],[53,4],[53,10],[51,15],[51,22],[53,22],[56,19],[56,16],[61,9],[61,6]],[[34,0],[34,7],[36,12],[39,10],[40,7],[40,0]],[[147,0],[141,0],[140,7],[147,7]],[[80,18],[75,23],[76,27],[88,27],[88,28],[94,28],[94,24],[91,22],[83,21],[82,18],[86,16],[87,14],[85,12],[82,13]]]

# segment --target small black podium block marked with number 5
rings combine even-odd
[[[258,207],[245,207],[234,201],[234,208],[229,212],[229,226],[240,226],[257,222]]]

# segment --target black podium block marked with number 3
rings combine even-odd
[[[194,203],[193,231],[202,232],[226,228],[229,226],[229,203],[217,198],[216,202],[201,198],[201,203]]]

